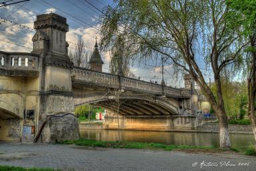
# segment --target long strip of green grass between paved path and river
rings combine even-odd
[[[92,146],[92,147],[106,147],[106,148],[136,148],[136,149],[153,149],[153,150],[199,150],[208,152],[221,152],[223,149],[215,148],[212,146],[186,146],[186,145],[166,145],[160,143],[133,143],[133,142],[122,142],[118,143],[116,141],[94,141],[88,139],[78,139],[75,141],[62,141],[59,144],[76,144],[80,146]],[[238,152],[237,149],[232,148],[231,150]],[[227,150],[225,150],[227,151]]]

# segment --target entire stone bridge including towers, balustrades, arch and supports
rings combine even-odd
[[[195,111],[203,107],[190,75],[185,88],[177,89],[102,72],[97,44],[90,69],[75,67],[68,58],[64,17],[38,15],[34,28],[32,52],[0,51],[0,140],[76,139],[76,118],[63,113],[85,103],[110,111],[106,129],[117,127],[117,115],[122,129],[196,127]]]

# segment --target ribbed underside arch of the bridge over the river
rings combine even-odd
[[[151,95],[120,95],[120,115],[178,115],[182,106],[176,99],[155,97]],[[95,95],[86,98],[74,98],[74,105],[90,105],[104,107],[117,113],[117,97],[115,95]]]

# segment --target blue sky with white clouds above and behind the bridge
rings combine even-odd
[[[0,0],[0,3],[10,0]],[[12,0],[8,3],[20,0]],[[87,2],[86,2],[87,1]],[[94,48],[95,37],[100,40],[100,11],[107,5],[113,5],[112,0],[31,0],[7,7],[0,7],[0,50],[6,52],[31,52],[35,34],[33,22],[37,15],[57,13],[66,17],[69,32],[66,41],[70,44],[68,50],[73,50],[79,36],[84,40],[86,50]],[[8,4],[7,3],[7,4]],[[94,7],[96,8],[94,8]],[[100,11],[99,11],[100,10]],[[7,21],[5,20],[7,19]],[[25,27],[25,28],[24,28]],[[108,72],[110,52],[100,52],[104,61],[103,72]],[[145,81],[160,83],[162,80],[160,62],[148,61],[146,64],[134,62],[130,71]],[[172,65],[164,64],[164,80],[166,85],[184,87],[182,75],[174,75]],[[205,76],[206,76],[205,72]]]

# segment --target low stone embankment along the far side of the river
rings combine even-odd
[[[88,124],[80,123],[80,129],[102,129],[102,130],[117,130],[117,129],[106,129],[102,123]],[[197,127],[196,129],[120,129],[124,131],[159,131],[159,132],[181,132],[181,133],[219,133],[217,123],[205,123],[202,127]],[[238,125],[229,124],[230,134],[249,134],[253,135],[251,125]]]

